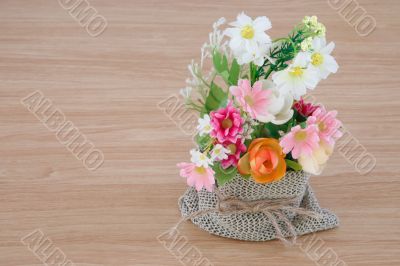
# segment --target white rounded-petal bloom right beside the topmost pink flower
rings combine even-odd
[[[268,105],[268,116],[261,117],[263,123],[272,122],[275,125],[282,125],[289,121],[293,116],[293,96],[279,90],[275,84],[269,80],[263,80],[263,89],[271,90],[270,103]]]

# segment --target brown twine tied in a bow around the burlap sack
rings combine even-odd
[[[293,207],[293,204],[296,204],[299,200],[301,200],[300,197],[243,201],[235,197],[225,197],[221,194],[218,188],[215,188],[214,192],[217,196],[217,204],[214,208],[199,210],[188,216],[182,217],[172,228],[172,230],[178,229],[178,227],[187,220],[191,220],[209,213],[216,212],[221,215],[230,215],[261,212],[267,216],[268,221],[275,229],[276,238],[281,240],[285,245],[294,245],[297,239],[296,229],[287,215],[285,215],[284,211],[293,212],[297,215],[321,218],[320,214],[314,211],[309,211],[301,207]],[[280,221],[285,224],[289,233],[288,237],[284,236],[282,228],[279,225]]]

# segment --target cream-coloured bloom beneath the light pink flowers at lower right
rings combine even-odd
[[[298,159],[299,164],[303,170],[313,175],[319,175],[324,170],[329,156],[333,152],[333,147],[325,143],[320,143],[311,155],[300,156]]]

